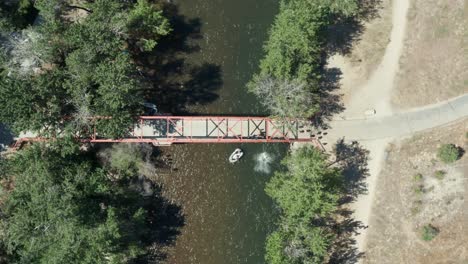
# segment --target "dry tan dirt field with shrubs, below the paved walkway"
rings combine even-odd
[[[437,148],[468,149],[468,120],[391,144],[379,176],[364,263],[468,263],[468,155],[441,163]],[[439,234],[422,239],[432,225]]]

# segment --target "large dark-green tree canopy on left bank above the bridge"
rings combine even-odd
[[[147,0],[80,3],[37,0],[35,26],[3,32],[0,121],[15,132],[87,133],[90,117],[108,116],[100,135],[119,137],[142,113],[134,58],[169,34],[168,20]]]

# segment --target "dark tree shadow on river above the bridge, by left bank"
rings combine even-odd
[[[148,89],[145,98],[162,113],[186,114],[187,106],[208,104],[218,98],[223,81],[221,67],[207,62],[189,62],[200,51],[203,37],[199,18],[187,18],[178,7],[164,4],[172,32],[159,40],[154,51],[136,58]]]

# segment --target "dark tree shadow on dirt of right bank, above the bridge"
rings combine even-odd
[[[382,0],[360,0],[359,12],[356,16],[345,18],[336,15],[331,18],[334,23],[325,29],[326,48],[322,57],[325,63],[330,55],[347,55],[351,52],[353,44],[360,40],[366,22],[379,16]],[[322,81],[316,91],[319,111],[311,118],[317,128],[329,128],[328,122],[335,114],[345,110],[341,102],[340,89],[342,72],[338,68],[327,68],[323,65]]]

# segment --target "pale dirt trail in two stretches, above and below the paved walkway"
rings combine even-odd
[[[345,101],[346,110],[340,114],[342,118],[363,117],[368,109],[375,109],[377,115],[391,115],[391,94],[394,88],[395,76],[399,70],[399,60],[403,50],[403,43],[406,30],[406,16],[409,8],[409,0],[394,0],[392,3],[392,23],[390,42],[385,49],[381,63],[371,74],[369,80],[359,88],[354,88],[352,96]],[[343,72],[341,85],[350,87],[356,85],[356,73],[349,64],[345,64],[347,59],[334,56],[329,67],[340,68]],[[345,136],[345,132],[343,133]],[[361,221],[364,225],[369,224],[371,205],[375,196],[375,185],[385,157],[385,147],[390,139],[374,140],[363,142],[369,153],[369,177],[367,177],[368,194],[361,195],[352,204],[355,220]],[[367,229],[363,229],[356,237],[357,248],[363,252],[366,247]]]

